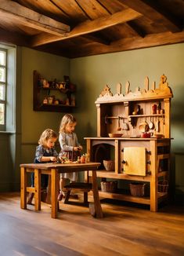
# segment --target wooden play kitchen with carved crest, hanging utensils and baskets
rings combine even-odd
[[[97,98],[97,137],[85,137],[87,152],[91,161],[101,163],[101,181],[118,181],[117,190],[100,191],[101,198],[148,204],[151,211],[168,198],[173,94],[166,81],[161,75],[158,88],[155,82],[149,88],[146,77],[144,88],[135,92],[126,82],[124,94],[119,83],[114,95],[105,86]],[[114,160],[114,170],[104,168],[104,159]],[[91,177],[89,171],[86,180]]]

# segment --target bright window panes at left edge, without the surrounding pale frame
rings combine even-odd
[[[0,48],[0,130],[5,129],[7,52]]]

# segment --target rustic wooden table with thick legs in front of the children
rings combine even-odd
[[[92,192],[96,218],[103,218],[96,181],[100,163],[22,163],[20,164],[20,207],[27,209],[27,192],[34,192],[35,210],[41,210],[41,174],[51,175],[51,217],[57,218],[60,173],[92,171]],[[27,174],[34,172],[34,188],[27,187]]]

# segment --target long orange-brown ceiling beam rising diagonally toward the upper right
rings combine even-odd
[[[41,35],[35,35],[32,40],[32,47],[41,46],[46,43],[56,42],[66,40],[68,38],[74,38],[81,35],[86,35],[92,32],[101,31],[107,27],[112,27],[117,24],[121,24],[127,22],[129,20],[135,20],[142,16],[142,14],[134,11],[133,9],[124,9],[121,12],[114,13],[110,16],[103,16],[96,20],[87,20],[78,24],[74,29],[70,32],[65,33],[62,36],[55,35],[45,35],[41,33]]]

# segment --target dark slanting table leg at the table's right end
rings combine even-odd
[[[96,170],[92,171],[92,193],[94,199],[96,218],[103,218],[103,210],[99,201],[99,190],[96,181]]]

